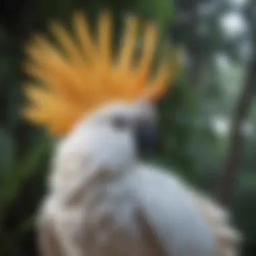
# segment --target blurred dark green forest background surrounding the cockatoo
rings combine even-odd
[[[161,150],[154,161],[232,210],[245,232],[241,255],[256,255],[256,1],[2,0],[0,4],[0,255],[36,255],[34,218],[45,191],[52,140],[24,122],[24,45],[50,20],[70,25],[82,8],[153,19],[183,45],[185,66],[159,104]]]

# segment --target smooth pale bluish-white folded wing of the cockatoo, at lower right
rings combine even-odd
[[[214,234],[182,181],[152,166],[136,172],[138,203],[166,255],[216,256]]]

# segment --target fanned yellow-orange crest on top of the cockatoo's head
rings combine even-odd
[[[73,15],[75,38],[63,26],[51,25],[63,51],[43,36],[35,36],[26,49],[30,59],[25,69],[41,86],[26,86],[30,100],[24,109],[26,119],[44,125],[53,135],[63,135],[79,118],[102,104],[139,97],[155,101],[164,94],[173,75],[170,62],[161,61],[156,75],[150,78],[158,39],[156,26],[146,24],[141,57],[136,63],[133,55],[138,20],[127,18],[117,58],[113,58],[111,49],[112,29],[111,15],[104,11],[98,20],[97,38],[93,38],[84,15],[77,12]]]

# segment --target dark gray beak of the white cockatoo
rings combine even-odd
[[[140,156],[147,156],[158,152],[159,137],[155,123],[141,123],[136,131],[137,150]]]

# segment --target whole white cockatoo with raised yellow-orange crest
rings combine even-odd
[[[38,214],[45,256],[231,256],[240,234],[224,208],[164,168],[141,162],[154,139],[154,102],[170,82],[169,61],[150,76],[157,28],[146,24],[141,58],[133,62],[138,21],[128,16],[121,50],[112,60],[111,17],[100,15],[98,42],[82,13],[76,38],[51,29],[64,53],[43,36],[27,51],[27,119],[57,143],[48,190]]]

